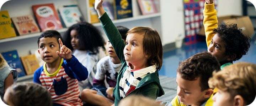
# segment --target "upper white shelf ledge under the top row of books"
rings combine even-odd
[[[131,17],[131,18],[124,18],[124,19],[118,19],[118,20],[113,20],[113,23],[123,23],[123,22],[130,22],[133,20],[140,20],[140,19],[147,19],[147,18],[154,18],[154,17],[160,17],[160,13],[155,13],[155,14],[149,14],[149,15],[142,15],[142,16],[137,16],[137,17]],[[100,27],[101,23],[95,23],[93,24],[95,27]],[[67,30],[67,28],[62,28],[62,29],[57,29],[59,33],[63,33]],[[0,43],[4,42],[10,42],[10,41],[16,41],[16,40],[22,40],[22,39],[29,39],[33,37],[38,37],[40,36],[41,33],[34,33],[34,34],[28,34],[28,35],[21,35],[21,36],[16,36],[16,37],[10,37],[6,39],[1,39]]]

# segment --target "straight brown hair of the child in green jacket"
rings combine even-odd
[[[134,27],[127,34],[142,34],[143,51],[148,55],[148,65],[156,65],[156,70],[160,70],[162,66],[162,42],[158,32],[149,27]]]

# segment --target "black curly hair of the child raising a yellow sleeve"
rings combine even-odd
[[[221,24],[213,30],[225,43],[225,54],[236,57],[232,61],[239,60],[250,48],[250,37],[242,33],[237,24]]]

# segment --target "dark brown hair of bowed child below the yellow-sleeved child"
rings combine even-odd
[[[193,81],[200,78],[200,87],[203,91],[209,88],[208,80],[212,77],[212,73],[215,70],[220,70],[218,60],[210,53],[202,52],[180,62],[177,72],[185,80]]]

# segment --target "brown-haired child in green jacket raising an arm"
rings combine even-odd
[[[152,99],[164,94],[158,71],[162,66],[162,43],[158,32],[149,27],[134,27],[127,32],[126,42],[102,7],[103,0],[95,0],[103,30],[122,63],[114,88],[114,105],[130,94]]]

